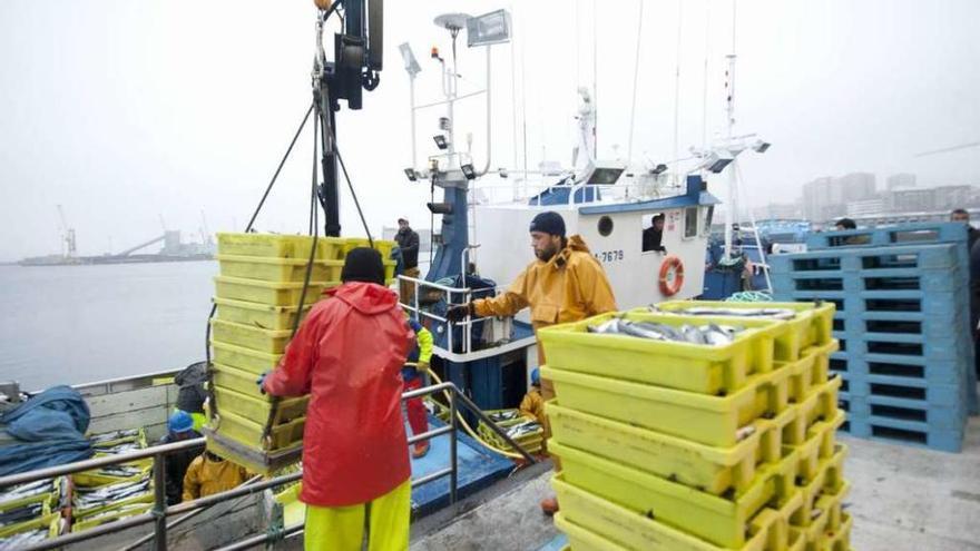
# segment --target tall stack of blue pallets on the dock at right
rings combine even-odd
[[[812,234],[807,247],[770,258],[774,297],[836,304],[842,430],[960,451],[977,410],[967,227]]]

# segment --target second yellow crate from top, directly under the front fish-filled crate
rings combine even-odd
[[[726,396],[709,396],[541,367],[566,407],[712,446],[738,443],[739,430],[788,407],[787,370],[753,375]]]

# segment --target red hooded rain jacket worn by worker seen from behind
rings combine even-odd
[[[352,282],[326,294],[333,298],[313,306],[264,387],[311,394],[300,500],[344,506],[411,476],[401,368],[414,334],[388,288]]]

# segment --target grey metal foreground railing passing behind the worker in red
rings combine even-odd
[[[450,411],[450,423],[445,426],[441,426],[438,429],[433,429],[431,431],[424,432],[422,434],[416,434],[408,439],[408,444],[412,445],[415,442],[428,441],[430,439],[449,434],[451,444],[449,447],[450,454],[450,464],[448,468],[442,469],[440,471],[435,471],[433,473],[427,474],[424,476],[420,476],[418,479],[412,480],[412,488],[428,484],[430,482],[434,482],[437,480],[441,480],[443,478],[449,476],[449,502],[450,504],[455,503],[457,501],[457,489],[459,482],[459,464],[457,456],[457,431],[458,431],[458,415],[457,409],[458,405],[461,404],[463,407],[469,410],[471,413],[477,415],[481,421],[483,421],[488,427],[490,427],[498,436],[500,436],[507,444],[512,447],[517,453],[519,453],[529,464],[536,463],[533,456],[528,453],[523,447],[521,447],[517,442],[513,441],[502,429],[500,429],[496,423],[493,423],[490,417],[487,416],[465,394],[461,393],[459,388],[452,383],[440,383],[437,385],[425,386],[422,388],[418,388],[414,391],[405,392],[402,394],[402,400],[415,399],[425,396],[429,394],[433,394],[437,392],[443,392],[448,396],[449,401],[449,411]],[[459,404],[458,404],[459,402]],[[95,457],[85,461],[77,461],[75,463],[66,463],[63,465],[49,466],[45,469],[37,469],[33,471],[17,473],[17,474],[8,474],[6,476],[0,476],[0,490],[3,490],[9,486],[13,486],[17,484],[24,484],[28,482],[36,482],[39,480],[51,479],[55,476],[63,476],[67,474],[80,473],[85,471],[91,471],[95,469],[100,469],[109,465],[117,465],[121,463],[128,463],[136,460],[151,457],[154,461],[153,466],[153,492],[154,492],[154,506],[148,513],[137,514],[134,516],[129,516],[127,519],[117,520],[114,522],[108,522],[100,527],[95,527],[89,530],[84,530],[79,532],[72,532],[69,534],[59,535],[57,538],[51,538],[49,540],[45,540],[42,542],[38,542],[31,544],[29,547],[23,548],[22,551],[42,551],[48,549],[58,549],[61,547],[79,543],[82,541],[88,541],[94,538],[98,538],[104,534],[117,533],[122,530],[127,530],[135,527],[140,527],[144,524],[154,524],[154,531],[149,537],[144,538],[143,540],[134,543],[127,549],[133,549],[138,547],[141,543],[153,540],[154,549],[163,551],[167,549],[167,530],[169,528],[174,528],[177,523],[183,520],[189,518],[193,513],[196,513],[200,510],[209,508],[212,505],[216,505],[218,503],[226,502],[232,499],[242,498],[246,495],[256,494],[258,492],[263,492],[265,490],[274,489],[277,486],[282,486],[284,484],[290,484],[293,482],[298,482],[303,478],[302,471],[284,474],[281,476],[275,476],[270,480],[264,481],[255,481],[253,483],[243,484],[238,488],[207,495],[194,501],[187,501],[183,503],[178,503],[176,505],[167,505],[166,502],[166,461],[167,455],[182,452],[187,450],[193,450],[195,447],[199,447],[200,445],[206,443],[206,439],[193,439],[185,440],[180,442],[174,442],[169,444],[161,444],[150,446],[144,450],[136,450],[133,452],[127,452],[118,455],[105,456],[105,457]],[[408,453],[408,452],[406,452]],[[173,523],[167,523],[167,518],[174,515],[183,515],[187,514],[182,519],[177,519],[177,521]],[[288,535],[294,535],[301,533],[303,531],[303,524],[298,524],[295,527],[288,527],[282,531],[277,531],[276,533],[270,534],[259,534],[254,538],[249,538],[239,542],[234,543],[231,547],[224,548],[226,550],[229,549],[247,549],[249,547],[258,545],[263,542],[275,541],[281,538],[285,538]]]

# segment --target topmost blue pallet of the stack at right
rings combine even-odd
[[[856,239],[866,240],[855,245]],[[851,243],[847,243],[851,242]],[[967,225],[958,222],[899,224],[889,227],[822,232],[806,235],[808,250],[835,247],[880,247],[924,243],[967,243]]]

